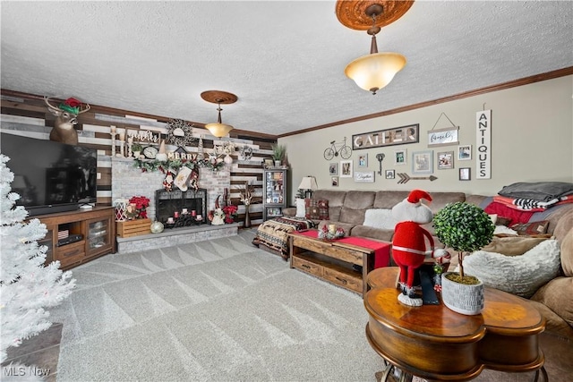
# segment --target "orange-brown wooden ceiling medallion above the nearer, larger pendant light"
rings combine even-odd
[[[338,21],[342,25],[351,30],[369,30],[372,28],[372,13],[368,13],[367,9],[379,4],[382,6],[382,13],[377,15],[375,26],[384,27],[397,21],[406,13],[414,0],[406,1],[391,1],[391,0],[378,0],[378,1],[350,1],[338,0],[336,4],[336,13]],[[371,8],[372,10],[372,8]]]

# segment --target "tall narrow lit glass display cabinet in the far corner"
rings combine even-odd
[[[286,169],[265,169],[262,190],[262,219],[283,216],[286,208]]]

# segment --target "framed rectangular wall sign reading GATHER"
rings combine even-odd
[[[366,132],[352,136],[352,149],[372,149],[385,146],[417,143],[420,140],[420,124],[396,127],[394,129]]]

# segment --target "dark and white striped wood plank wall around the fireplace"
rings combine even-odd
[[[47,111],[43,96],[8,89],[0,89],[0,95],[2,114],[0,126],[2,131],[26,132],[26,135],[32,138],[49,139],[49,132],[54,127],[56,117]],[[81,100],[90,103],[89,99]],[[170,118],[135,113],[108,106],[91,104],[90,106],[90,111],[81,114],[76,125],[79,145],[98,149],[98,203],[111,205],[110,126],[115,125],[118,129],[153,130],[154,132],[161,132],[162,138],[165,138],[167,132],[165,125]],[[193,135],[203,136],[205,152],[212,151],[214,143],[219,142],[219,140],[211,136],[209,131],[203,129],[204,123],[191,121],[188,123],[197,126],[196,128],[193,127]],[[231,167],[230,198],[233,204],[241,205],[237,187],[244,184],[245,181],[255,185],[256,195],[262,196],[262,161],[272,157],[271,145],[277,142],[277,137],[233,130],[230,133],[230,140],[235,142],[237,148],[244,145],[252,148],[252,159],[249,161],[239,160],[238,150],[231,156],[234,161]],[[196,150],[196,148],[187,149],[190,152]],[[159,188],[161,188],[161,184],[158,184]],[[133,191],[133,194],[137,194],[137,191]],[[239,209],[239,212],[241,211],[243,208]],[[262,221],[262,205],[252,205],[250,213],[253,224]],[[243,219],[244,214],[239,214],[239,217]]]

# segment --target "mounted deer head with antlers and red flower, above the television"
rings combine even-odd
[[[82,104],[75,98],[68,98],[57,107],[50,104],[50,98],[48,97],[44,97],[44,101],[46,102],[47,110],[52,115],[56,115],[54,128],[50,132],[50,140],[77,145],[78,132],[75,131],[73,125],[78,123],[78,115],[90,110],[90,105]],[[83,108],[81,108],[82,105],[84,106]]]

